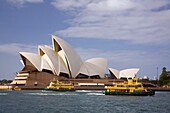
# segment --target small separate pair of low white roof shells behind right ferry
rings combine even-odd
[[[138,73],[139,68],[131,68],[131,69],[125,69],[125,70],[121,70],[121,71],[113,69],[113,68],[109,68],[109,71],[112,74],[114,74],[114,76],[117,79],[120,79],[120,78],[134,78],[136,76],[136,74]]]

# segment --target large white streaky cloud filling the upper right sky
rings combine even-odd
[[[77,12],[70,27],[56,31],[56,35],[168,44],[168,4],[168,0],[55,0],[57,9]]]

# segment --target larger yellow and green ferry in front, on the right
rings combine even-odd
[[[138,78],[128,79],[123,83],[115,83],[113,86],[105,86],[105,95],[129,95],[129,96],[153,96],[155,91],[148,90]]]

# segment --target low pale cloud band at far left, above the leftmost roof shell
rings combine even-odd
[[[34,52],[37,53],[37,46],[25,44],[3,44],[0,45],[0,53],[8,53],[11,55],[18,55],[19,52]]]

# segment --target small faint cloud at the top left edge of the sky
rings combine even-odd
[[[17,7],[23,7],[26,3],[43,3],[44,0],[6,0],[7,2],[17,6]]]

